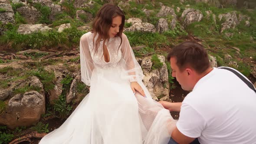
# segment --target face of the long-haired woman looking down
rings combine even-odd
[[[110,26],[110,29],[108,30],[108,36],[110,38],[115,37],[115,35],[119,32],[119,28],[122,23],[122,17],[116,16],[112,18],[112,24]]]

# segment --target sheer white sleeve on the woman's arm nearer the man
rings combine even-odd
[[[130,82],[137,82],[138,80],[142,80],[143,72],[141,70],[141,66],[135,59],[130,43],[124,33],[122,34],[121,52],[123,61],[122,66],[125,69],[126,76]]]

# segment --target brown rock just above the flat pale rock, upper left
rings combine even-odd
[[[41,17],[41,13],[35,7],[20,7],[17,11],[25,17],[26,22],[36,23]]]

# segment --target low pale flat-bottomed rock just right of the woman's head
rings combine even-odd
[[[131,31],[131,32],[140,31],[140,32],[155,33],[156,29],[154,28],[154,25],[152,25],[151,23],[135,23],[134,25],[125,29],[125,31]]]

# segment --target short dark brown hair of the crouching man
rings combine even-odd
[[[171,57],[177,59],[177,66],[181,71],[185,70],[186,66],[190,66],[201,74],[210,67],[208,54],[199,43],[183,42],[169,52],[167,59],[170,60]]]

